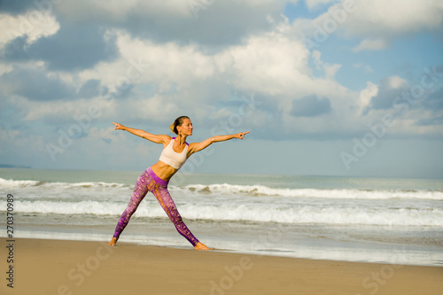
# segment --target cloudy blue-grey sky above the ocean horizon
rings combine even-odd
[[[443,178],[440,0],[0,1],[0,164]]]

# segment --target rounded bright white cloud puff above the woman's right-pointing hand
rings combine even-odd
[[[268,95],[304,89],[311,71],[303,44],[279,33],[252,36],[224,54],[232,58],[230,71],[237,88]]]

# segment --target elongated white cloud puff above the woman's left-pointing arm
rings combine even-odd
[[[214,59],[194,45],[153,43],[133,38],[122,31],[116,35],[121,58],[82,72],[83,80],[100,77],[102,83],[113,90],[123,82],[152,83],[167,90],[175,84],[179,88],[189,86],[193,80],[205,80],[214,75]]]

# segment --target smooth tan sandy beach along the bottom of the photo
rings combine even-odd
[[[443,268],[43,239],[2,241],[1,294],[440,294]],[[13,248],[8,249],[8,245]],[[12,250],[12,252],[10,252]],[[9,254],[8,254],[9,252]],[[13,263],[8,263],[8,255]]]

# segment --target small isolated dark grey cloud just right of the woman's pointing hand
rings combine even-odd
[[[291,115],[294,117],[315,117],[330,113],[330,100],[315,95],[292,100]]]

